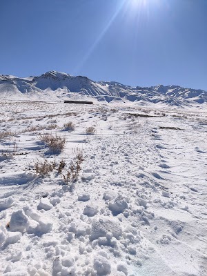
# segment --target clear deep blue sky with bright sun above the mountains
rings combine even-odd
[[[207,0],[0,1],[0,74],[207,90]]]

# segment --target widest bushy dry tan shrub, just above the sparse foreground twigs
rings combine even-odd
[[[57,134],[52,135],[43,133],[39,135],[39,139],[48,146],[51,152],[61,152],[61,150],[63,150],[64,146],[66,145],[66,138]]]

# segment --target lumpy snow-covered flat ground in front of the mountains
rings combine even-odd
[[[0,275],[207,275],[204,110],[1,101],[0,122]]]

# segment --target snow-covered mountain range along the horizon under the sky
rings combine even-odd
[[[57,101],[67,98],[194,106],[207,103],[207,91],[172,85],[132,88],[115,81],[97,82],[87,77],[73,77],[56,71],[26,78],[0,75],[0,99]]]

